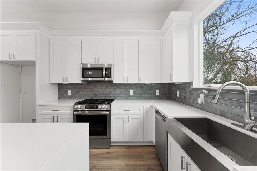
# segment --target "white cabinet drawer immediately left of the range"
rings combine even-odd
[[[73,115],[72,106],[38,106],[39,115]]]

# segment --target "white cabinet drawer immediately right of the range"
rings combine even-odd
[[[112,106],[112,115],[143,115],[143,106]]]

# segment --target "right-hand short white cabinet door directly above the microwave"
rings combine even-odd
[[[113,39],[97,41],[98,63],[113,64]]]

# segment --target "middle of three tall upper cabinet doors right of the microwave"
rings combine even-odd
[[[126,82],[138,83],[138,40],[126,40]]]

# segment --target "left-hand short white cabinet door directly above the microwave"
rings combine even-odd
[[[97,39],[82,39],[82,58],[83,64],[99,63],[97,61]]]

